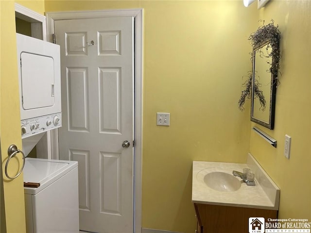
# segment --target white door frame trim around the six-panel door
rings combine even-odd
[[[141,233],[141,165],[142,165],[142,9],[78,12],[48,12],[47,40],[53,41],[54,21],[100,17],[132,16],[135,18],[135,78],[134,78],[134,233]]]

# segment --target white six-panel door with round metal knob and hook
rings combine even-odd
[[[133,232],[133,23],[103,17],[54,24],[61,46],[59,157],[79,162],[81,230]]]

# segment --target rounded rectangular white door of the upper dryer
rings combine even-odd
[[[53,106],[55,103],[54,59],[52,57],[22,52],[20,64],[23,109],[29,110]]]

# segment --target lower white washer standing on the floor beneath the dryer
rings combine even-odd
[[[78,162],[26,158],[27,233],[79,233]]]

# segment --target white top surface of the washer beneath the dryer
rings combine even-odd
[[[26,158],[24,182],[40,183],[40,186],[38,188],[24,187],[25,194],[37,194],[76,166],[78,166],[76,161]]]

